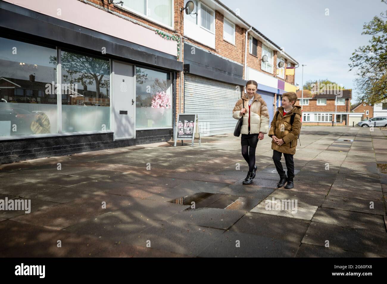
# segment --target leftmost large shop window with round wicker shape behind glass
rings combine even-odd
[[[55,55],[0,37],[0,136],[58,132]]]

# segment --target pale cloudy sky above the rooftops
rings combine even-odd
[[[387,10],[380,0],[220,0],[236,11],[295,58],[296,83],[328,78],[346,88],[355,88],[354,71],[348,71],[353,51],[368,44],[361,35],[363,24]],[[329,9],[329,15],[325,15]],[[352,102],[357,92],[353,90]]]

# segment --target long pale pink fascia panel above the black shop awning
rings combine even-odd
[[[78,0],[4,0],[41,14],[77,24],[94,31],[177,55],[176,41],[168,41],[154,31]],[[61,9],[61,15],[58,15]],[[102,47],[101,47],[102,48]]]

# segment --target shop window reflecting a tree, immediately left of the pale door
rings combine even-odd
[[[109,60],[61,52],[62,132],[110,130]]]

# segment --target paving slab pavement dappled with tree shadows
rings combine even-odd
[[[385,133],[303,126],[293,189],[277,189],[267,136],[243,185],[232,133],[0,165],[0,255],[387,257]],[[31,213],[1,209],[6,197]]]

